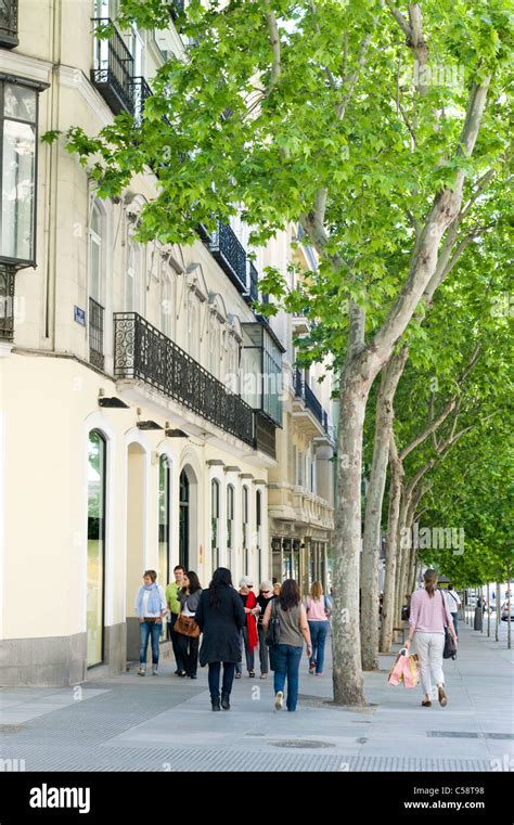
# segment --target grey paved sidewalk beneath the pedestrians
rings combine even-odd
[[[213,713],[207,671],[127,674],[79,687],[0,691],[0,758],[26,771],[491,771],[514,769],[512,652],[460,626],[446,662],[449,704],[387,684],[395,655],[365,674],[369,707],[331,706],[301,663],[296,713],[275,711],[272,676],[234,682],[232,710]],[[494,762],[493,760],[499,760]]]

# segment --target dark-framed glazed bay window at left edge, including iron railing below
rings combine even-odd
[[[36,267],[38,94],[49,83],[0,73],[0,339],[12,340],[14,275]]]

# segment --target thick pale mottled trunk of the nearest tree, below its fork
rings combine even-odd
[[[335,514],[333,682],[337,705],[365,705],[360,655],[361,461],[371,381],[349,356],[340,381]]]

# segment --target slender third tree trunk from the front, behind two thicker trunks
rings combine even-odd
[[[382,604],[382,626],[380,645],[382,653],[389,653],[393,642],[393,619],[395,610],[395,580],[397,565],[397,534],[400,515],[400,497],[403,480],[403,467],[398,460],[395,437],[391,435],[389,449],[390,482],[389,512],[387,517],[386,569],[384,581],[384,601]]]

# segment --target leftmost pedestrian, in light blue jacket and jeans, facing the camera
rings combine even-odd
[[[146,673],[146,653],[149,640],[152,639],[152,675],[158,675],[158,642],[163,629],[163,619],[168,613],[166,598],[160,584],[156,583],[155,570],[145,570],[143,583],[136,596],[136,613],[139,618],[141,647],[139,650],[139,675]]]

